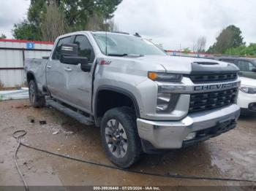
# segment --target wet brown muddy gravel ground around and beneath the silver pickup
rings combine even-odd
[[[34,109],[28,100],[0,102],[0,185],[22,185],[12,160],[15,130],[26,130],[25,144],[52,152],[111,165],[103,152],[99,128],[87,127],[54,109]],[[34,123],[31,123],[34,120]],[[46,120],[46,125],[39,125]],[[241,117],[238,128],[192,147],[165,155],[145,155],[132,169],[159,174],[182,174],[256,180],[256,116]],[[227,186],[245,182],[170,179],[98,167],[20,148],[18,163],[29,185]],[[1,190],[1,189],[0,189]]]

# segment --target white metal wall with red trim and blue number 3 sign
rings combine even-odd
[[[0,87],[22,86],[26,58],[49,56],[53,42],[0,39]]]

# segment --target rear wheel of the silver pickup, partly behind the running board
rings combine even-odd
[[[34,80],[29,82],[29,101],[31,106],[34,107],[45,106],[45,96],[39,95],[39,90]]]

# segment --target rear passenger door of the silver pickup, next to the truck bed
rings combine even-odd
[[[50,90],[51,95],[55,98],[59,98],[64,101],[67,97],[65,94],[65,77],[64,77],[64,66],[60,62],[61,58],[61,46],[62,44],[68,44],[72,42],[72,36],[67,36],[59,39],[55,50],[53,51],[52,57],[49,59],[46,65],[46,79],[47,87]]]

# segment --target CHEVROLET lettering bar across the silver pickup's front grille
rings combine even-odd
[[[239,87],[240,82],[233,82],[229,84],[219,84],[219,85],[199,85],[195,86],[195,91],[208,91],[208,90],[225,90],[234,87]]]

